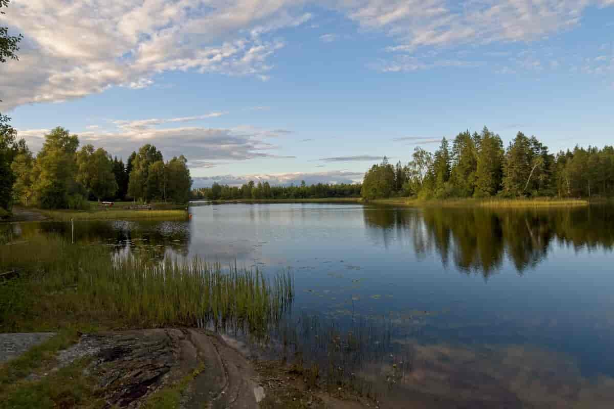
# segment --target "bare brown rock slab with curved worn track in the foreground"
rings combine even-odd
[[[88,372],[109,407],[138,408],[160,388],[190,376],[181,408],[256,409],[262,399],[246,357],[220,335],[198,329],[146,329],[83,335],[59,366],[92,357]]]

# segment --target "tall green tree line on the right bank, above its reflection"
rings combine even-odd
[[[507,148],[484,129],[441,140],[435,153],[415,148],[411,161],[388,159],[365,174],[362,197],[594,197],[614,194],[614,148],[605,146],[550,153],[535,136],[518,132]]]

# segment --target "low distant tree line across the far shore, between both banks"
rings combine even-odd
[[[209,188],[192,191],[193,199],[238,200],[238,199],[321,199],[325,197],[359,197],[360,184],[325,184],[300,186],[271,186],[268,182],[255,183],[253,180],[239,186],[219,185],[214,182]]]

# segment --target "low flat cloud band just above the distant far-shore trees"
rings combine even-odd
[[[194,188],[211,186],[214,182],[220,185],[239,186],[253,180],[255,183],[268,182],[270,185],[300,185],[305,180],[307,185],[315,183],[357,183],[362,182],[363,172],[350,172],[348,170],[330,170],[327,172],[292,172],[285,174],[253,174],[253,175],[216,175],[208,177],[195,177]]]

